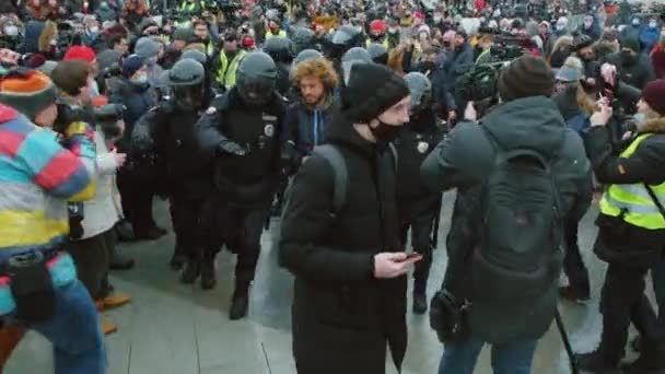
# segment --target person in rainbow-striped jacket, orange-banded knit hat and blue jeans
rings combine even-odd
[[[103,374],[97,312],[61,252],[67,202],[95,195],[95,149],[84,127],[52,130],[56,97],[50,79],[37,71],[12,70],[0,80],[0,267],[7,280],[0,316],[54,343],[56,373]]]

